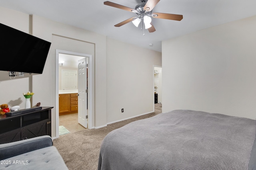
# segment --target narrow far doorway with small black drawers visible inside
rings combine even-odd
[[[162,66],[154,65],[154,110],[162,109]]]

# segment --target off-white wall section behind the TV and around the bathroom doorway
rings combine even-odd
[[[56,21],[51,21],[40,16],[33,15],[30,17],[27,14],[16,12],[0,7],[0,22],[8,26],[14,27],[26,33],[31,32],[32,35],[42,38],[46,41],[52,42],[53,35],[73,39],[78,44],[86,42],[92,44],[90,49],[78,49],[77,45],[62,45],[66,51],[73,51],[80,53],[81,51],[92,51],[94,55],[94,122],[93,126],[106,125],[106,36],[99,35],[84,29],[72,27]],[[31,24],[31,25],[30,25]],[[29,28],[32,30],[29,30]],[[23,100],[22,93],[27,92],[31,88],[34,92],[32,97],[32,105],[41,102],[41,106],[54,106],[52,109],[52,137],[55,137],[55,49],[52,43],[44,71],[42,74],[30,76],[30,78],[20,78],[17,80],[7,80],[0,82],[0,88],[4,89],[1,92],[1,103],[8,103],[11,100]],[[66,48],[67,47],[67,48]],[[79,51],[81,50],[81,51]],[[4,72],[6,73],[6,72]],[[1,74],[2,75],[2,74]],[[9,80],[8,80],[9,79]],[[1,79],[2,80],[2,79]],[[25,105],[25,102],[24,102]],[[20,105],[22,109],[22,104]],[[24,108],[24,107],[23,107]]]

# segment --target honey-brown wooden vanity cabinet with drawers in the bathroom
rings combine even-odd
[[[59,94],[59,115],[78,113],[78,93]]]

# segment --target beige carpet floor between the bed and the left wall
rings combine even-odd
[[[85,129],[69,133],[53,140],[69,170],[97,170],[100,145],[104,137],[114,129],[132,121],[152,117],[162,112],[162,104],[155,104],[155,112],[132,119],[112,123],[100,129]]]

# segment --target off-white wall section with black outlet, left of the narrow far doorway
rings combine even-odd
[[[162,65],[161,53],[107,37],[106,64],[107,123],[152,112],[153,65]]]

